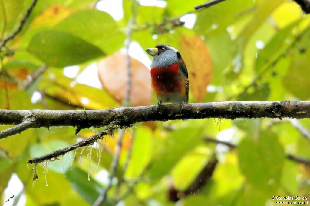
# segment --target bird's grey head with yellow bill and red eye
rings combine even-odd
[[[148,48],[145,51],[153,56],[151,68],[169,66],[181,58],[177,49],[166,44],[158,44],[155,48]]]

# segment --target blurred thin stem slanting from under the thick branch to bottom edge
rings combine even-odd
[[[124,131],[121,130],[121,133],[120,133],[118,141],[117,141],[117,145],[115,146],[115,154],[113,156],[113,160],[112,160],[112,163],[111,163],[111,166],[110,166],[110,176],[109,176],[108,185],[104,189],[103,193],[98,196],[98,198],[95,201],[95,203],[93,204],[93,206],[100,206],[104,202],[104,200],[107,197],[108,191],[109,191],[109,189],[112,186],[112,180],[113,180],[113,177],[116,174],[118,160],[119,160],[119,156],[120,156],[120,153],[121,153],[123,137],[124,137]]]

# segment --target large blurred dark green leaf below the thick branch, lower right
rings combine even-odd
[[[285,159],[277,136],[261,132],[259,139],[244,139],[237,148],[242,173],[249,183],[262,190],[274,191],[281,179]]]

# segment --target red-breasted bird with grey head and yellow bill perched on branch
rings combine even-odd
[[[153,57],[151,63],[152,89],[157,97],[157,106],[162,103],[181,105],[188,103],[188,71],[181,54],[176,48],[158,44],[145,51]]]

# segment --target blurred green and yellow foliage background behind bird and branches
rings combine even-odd
[[[0,0],[1,40],[16,30],[31,2]],[[132,106],[156,103],[150,59],[141,63],[148,58],[141,48],[159,43],[178,48],[183,56],[190,102],[310,98],[310,20],[295,2],[227,0],[193,11],[204,0],[150,1],[157,6],[123,0],[113,7],[123,14],[118,19],[99,6],[104,2],[38,0],[21,32],[1,48],[0,109],[121,106],[125,40],[136,48],[129,50],[135,57]],[[98,79],[96,88],[92,85]],[[286,158],[310,158],[310,142],[294,125],[310,128],[308,119],[136,124],[124,135],[105,204],[275,205],[271,197],[277,195],[309,199],[310,167]],[[0,130],[8,127],[0,125]],[[29,129],[0,141],[3,205],[91,205],[106,187],[119,131],[106,137],[103,147],[78,149],[39,165],[33,184],[29,158],[74,144],[97,129],[83,129],[78,136],[74,128],[50,130]]]

